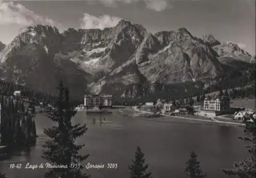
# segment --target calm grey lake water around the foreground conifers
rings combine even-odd
[[[129,111],[123,111],[123,113]],[[189,151],[195,150],[201,167],[207,172],[208,178],[230,177],[221,169],[231,167],[233,161],[247,156],[245,143],[237,139],[243,136],[243,128],[223,126],[217,123],[193,122],[176,118],[131,118],[119,112],[103,116],[112,123],[92,123],[93,118],[99,116],[86,115],[78,112],[75,123],[87,123],[87,133],[77,140],[78,144],[85,143],[81,154],[90,154],[84,161],[94,164],[117,163],[117,169],[84,169],[92,178],[128,178],[128,165],[131,164],[137,146],[145,154],[148,170],[155,178],[185,178],[183,172]],[[37,115],[36,118],[37,144],[30,151],[17,152],[9,160],[0,162],[0,172],[10,178],[43,177],[47,169],[10,169],[12,163],[39,164],[46,161],[41,158],[41,145],[47,140],[43,131],[45,127],[53,125],[46,116]]]

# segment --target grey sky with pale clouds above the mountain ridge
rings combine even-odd
[[[120,19],[152,33],[184,27],[196,37],[212,34],[255,54],[255,0],[0,0],[0,41],[10,43],[33,24],[50,24],[62,32],[113,27]]]

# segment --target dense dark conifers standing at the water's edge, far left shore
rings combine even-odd
[[[36,127],[32,118],[34,113],[25,109],[24,103],[11,97],[1,96],[1,144],[13,148],[35,144]]]

